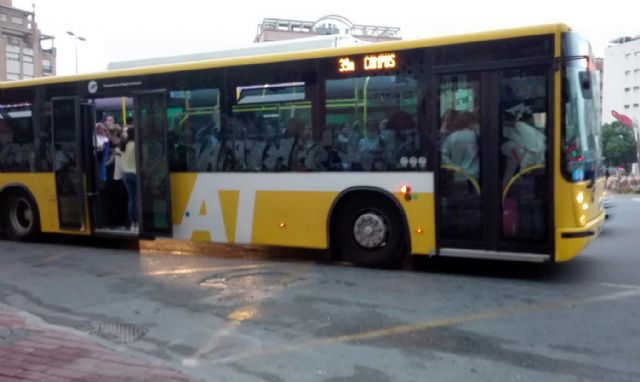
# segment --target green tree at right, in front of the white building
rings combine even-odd
[[[602,125],[602,149],[609,166],[623,166],[629,170],[631,163],[637,160],[633,131],[617,121]]]

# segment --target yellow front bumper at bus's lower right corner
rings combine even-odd
[[[598,237],[604,225],[606,213],[602,211],[586,226],[556,229],[555,261],[564,262],[576,257],[593,239]]]

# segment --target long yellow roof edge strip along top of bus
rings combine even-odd
[[[148,74],[171,73],[178,71],[190,71],[209,68],[220,68],[251,64],[264,64],[273,62],[282,62],[290,60],[302,60],[312,58],[332,57],[344,54],[366,54],[381,51],[397,51],[420,47],[446,46],[452,44],[460,44],[466,42],[480,42],[499,40],[512,37],[524,37],[543,34],[553,34],[558,32],[567,32],[570,28],[566,24],[545,24],[537,26],[529,26],[513,29],[501,29],[493,31],[484,31],[471,34],[461,34],[454,36],[443,36],[434,38],[424,38],[415,40],[399,40],[387,41],[372,44],[363,44],[343,48],[317,49],[310,51],[296,51],[287,53],[264,54],[258,56],[220,58],[211,60],[202,60],[195,62],[164,64],[147,67],[138,67],[131,69],[110,70],[97,73],[86,73],[79,75],[38,77],[28,80],[0,82],[0,89],[11,89],[34,85],[47,85],[58,83],[69,83],[78,81],[100,80],[118,77],[134,77]]]

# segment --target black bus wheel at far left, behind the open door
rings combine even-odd
[[[11,192],[6,195],[2,207],[2,219],[9,239],[31,240],[40,232],[38,208],[27,193]]]

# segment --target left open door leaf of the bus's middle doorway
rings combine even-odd
[[[85,179],[80,102],[76,97],[51,100],[53,147],[61,229],[86,231]]]

